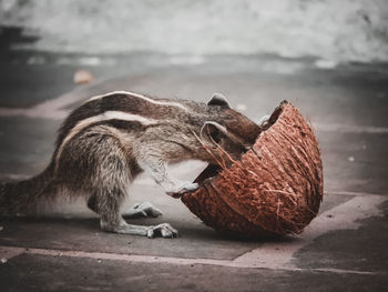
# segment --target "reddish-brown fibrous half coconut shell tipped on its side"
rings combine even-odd
[[[282,102],[269,128],[229,169],[210,164],[182,202],[208,226],[248,238],[300,233],[323,200],[316,137],[299,111]]]

